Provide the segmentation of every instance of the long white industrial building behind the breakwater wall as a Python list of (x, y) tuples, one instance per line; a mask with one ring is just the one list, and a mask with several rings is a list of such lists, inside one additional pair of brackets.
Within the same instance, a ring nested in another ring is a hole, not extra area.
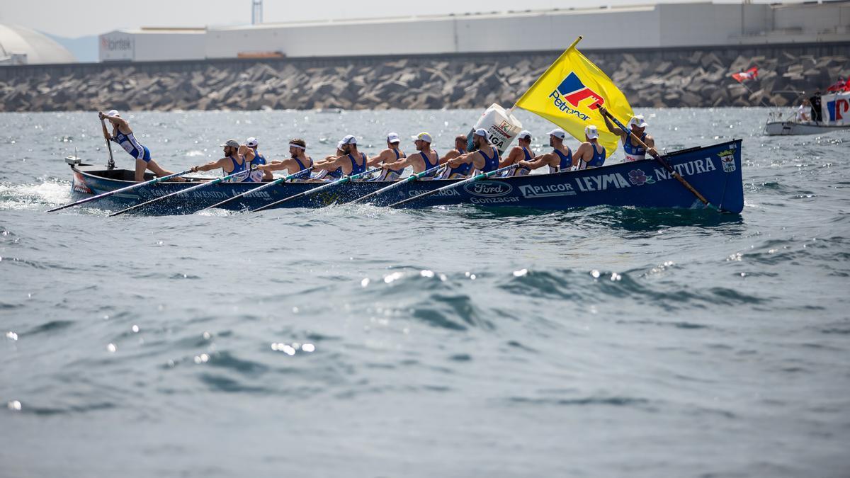
[[(252, 7), (256, 12), (256, 1)], [(111, 31), (100, 36), (100, 60), (553, 51), (579, 35), (585, 49), (847, 42), (850, 2), (663, 3)]]

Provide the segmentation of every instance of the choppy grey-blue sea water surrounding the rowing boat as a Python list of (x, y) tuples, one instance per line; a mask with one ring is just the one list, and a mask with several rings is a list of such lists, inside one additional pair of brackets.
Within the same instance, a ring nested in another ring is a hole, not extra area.
[[(0, 475), (847, 476), (850, 133), (644, 112), (661, 147), (743, 137), (743, 214), (48, 214), (97, 117), (0, 114)], [(478, 114), (131, 119), (183, 168), (252, 135), (442, 152)]]

